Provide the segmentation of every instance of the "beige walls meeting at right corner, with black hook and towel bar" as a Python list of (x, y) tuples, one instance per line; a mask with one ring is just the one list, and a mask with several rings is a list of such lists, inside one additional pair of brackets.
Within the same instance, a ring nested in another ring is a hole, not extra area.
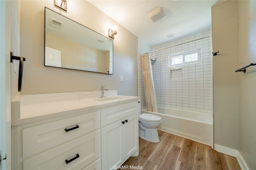
[[(214, 143), (236, 149), (256, 169), (256, 1), (225, 1), (212, 8)], [(223, 68), (225, 71), (223, 71)]]

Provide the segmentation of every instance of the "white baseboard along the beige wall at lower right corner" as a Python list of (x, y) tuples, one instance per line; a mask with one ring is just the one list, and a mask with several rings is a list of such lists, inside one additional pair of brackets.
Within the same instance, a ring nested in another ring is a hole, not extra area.
[(216, 144), (214, 144), (214, 150), (216, 150), (220, 153), (223, 153), (223, 154), (227, 154), (229, 156), (236, 157), (241, 170), (249, 170), (246, 162), (244, 161), (244, 158), (242, 157), (242, 155), (240, 154), (240, 152), (238, 150), (223, 147), (221, 145), (216, 145)]

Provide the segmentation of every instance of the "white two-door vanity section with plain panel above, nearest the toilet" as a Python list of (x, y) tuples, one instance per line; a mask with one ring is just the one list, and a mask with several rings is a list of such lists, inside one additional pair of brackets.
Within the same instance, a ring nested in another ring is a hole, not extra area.
[(103, 109), (101, 117), (102, 169), (114, 170), (138, 155), (138, 102)]

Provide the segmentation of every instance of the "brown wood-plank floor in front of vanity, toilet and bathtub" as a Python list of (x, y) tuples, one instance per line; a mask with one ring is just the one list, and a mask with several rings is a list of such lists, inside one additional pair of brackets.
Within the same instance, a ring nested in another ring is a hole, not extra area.
[[(210, 146), (158, 131), (159, 143), (139, 139), (139, 155), (124, 162), (126, 169), (143, 170), (241, 170), (236, 158)], [(127, 166), (126, 166), (127, 167)]]

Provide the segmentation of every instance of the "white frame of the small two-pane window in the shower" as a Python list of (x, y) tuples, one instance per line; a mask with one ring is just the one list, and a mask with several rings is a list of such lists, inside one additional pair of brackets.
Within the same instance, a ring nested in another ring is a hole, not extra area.
[[(195, 53), (197, 53), (197, 60), (185, 62), (185, 56), (186, 55), (195, 54)], [(183, 63), (172, 64), (172, 59), (180, 57), (180, 56), (182, 56), (182, 62)], [(194, 64), (194, 63), (201, 63), (201, 48), (200, 49), (193, 49), (193, 50), (184, 51), (184, 52), (181, 52), (181, 53), (176, 53), (176, 54), (169, 55), (169, 67), (172, 67), (172, 66), (182, 66), (182, 65)]]

